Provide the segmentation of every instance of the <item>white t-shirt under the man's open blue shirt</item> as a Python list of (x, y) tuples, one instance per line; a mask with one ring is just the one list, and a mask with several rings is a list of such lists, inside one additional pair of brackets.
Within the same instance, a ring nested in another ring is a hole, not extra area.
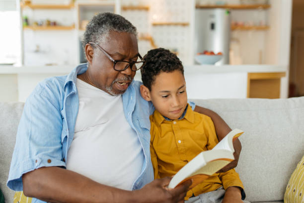
[(100, 184), (131, 190), (144, 154), (125, 117), (122, 96), (111, 96), (80, 79), (76, 87), (79, 110), (67, 169)]

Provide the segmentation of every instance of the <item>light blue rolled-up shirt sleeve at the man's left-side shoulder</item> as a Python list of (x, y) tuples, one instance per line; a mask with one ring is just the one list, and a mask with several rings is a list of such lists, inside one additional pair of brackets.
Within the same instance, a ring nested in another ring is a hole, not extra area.
[(58, 95), (40, 88), (29, 96), (17, 130), (7, 180), (10, 189), (22, 191), (21, 177), (27, 172), (66, 166), (62, 153), (62, 120)]

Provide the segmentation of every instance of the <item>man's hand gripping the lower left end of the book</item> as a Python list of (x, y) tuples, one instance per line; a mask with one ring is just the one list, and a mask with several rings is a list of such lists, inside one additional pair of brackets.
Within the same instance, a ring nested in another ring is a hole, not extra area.
[(140, 203), (184, 203), (184, 198), (192, 183), (184, 182), (174, 189), (167, 189), (171, 178), (156, 179), (141, 190), (134, 191), (136, 201)]

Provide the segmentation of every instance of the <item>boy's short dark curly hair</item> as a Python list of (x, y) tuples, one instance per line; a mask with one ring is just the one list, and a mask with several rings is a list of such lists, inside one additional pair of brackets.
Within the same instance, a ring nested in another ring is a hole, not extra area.
[(176, 54), (167, 49), (152, 49), (144, 56), (144, 60), (146, 63), (141, 68), (142, 81), (150, 91), (155, 77), (161, 72), (170, 73), (179, 70), (184, 75), (182, 62)]

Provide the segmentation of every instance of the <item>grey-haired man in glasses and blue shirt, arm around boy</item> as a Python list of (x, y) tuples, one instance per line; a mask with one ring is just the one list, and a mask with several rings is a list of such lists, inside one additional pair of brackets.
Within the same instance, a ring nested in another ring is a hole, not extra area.
[[(133, 81), (144, 63), (136, 28), (101, 13), (88, 23), (83, 45), (87, 64), (46, 79), (27, 99), (7, 186), (34, 197), (32, 203), (183, 202), (191, 181), (172, 190), (165, 187), (170, 178), (153, 181), (154, 108)], [(230, 130), (216, 113), (192, 107), (213, 118), (219, 139)]]

